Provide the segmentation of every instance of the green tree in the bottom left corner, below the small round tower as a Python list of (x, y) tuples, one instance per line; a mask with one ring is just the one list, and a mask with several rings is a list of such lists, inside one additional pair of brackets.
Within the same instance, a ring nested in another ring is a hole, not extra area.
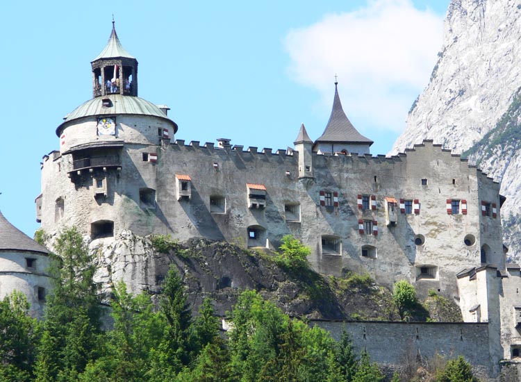
[(0, 301), (0, 380), (29, 381), (35, 360), (39, 328), (28, 317), (24, 294), (13, 292)]

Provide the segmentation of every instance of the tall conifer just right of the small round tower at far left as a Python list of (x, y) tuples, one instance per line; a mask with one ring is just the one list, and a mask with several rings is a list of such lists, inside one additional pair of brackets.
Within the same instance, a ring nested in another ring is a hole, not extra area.
[(49, 269), (53, 293), (47, 298), (35, 365), (38, 381), (76, 379), (97, 357), (101, 337), (95, 268), (81, 234), (75, 228), (64, 231), (55, 248)]

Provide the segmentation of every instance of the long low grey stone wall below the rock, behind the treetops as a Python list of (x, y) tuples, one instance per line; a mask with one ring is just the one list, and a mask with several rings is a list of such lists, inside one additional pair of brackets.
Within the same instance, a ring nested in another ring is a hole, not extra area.
[(498, 365), (490, 359), (488, 324), (437, 322), (335, 322), (312, 320), (338, 340), (345, 329), (352, 337), (356, 353), (363, 349), (379, 365), (404, 367), (418, 355), (429, 360), (436, 354), (445, 358), (464, 356), (474, 373), (490, 381), (497, 377)]

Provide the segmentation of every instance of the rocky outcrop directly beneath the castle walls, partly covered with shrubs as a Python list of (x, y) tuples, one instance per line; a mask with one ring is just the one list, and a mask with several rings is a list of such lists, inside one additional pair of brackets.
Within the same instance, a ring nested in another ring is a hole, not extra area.
[(271, 253), (204, 239), (174, 242), (161, 250), (165, 253), (149, 238), (129, 230), (115, 240), (94, 240), (90, 251), (97, 259), (95, 281), (101, 283), (106, 296), (119, 280), (133, 293), (148, 290), (157, 294), (174, 265), (186, 285), (190, 305), (197, 308), (210, 297), (222, 316), (231, 311), (243, 290), (254, 289), (295, 317), (399, 320), (390, 291), (368, 276), (334, 278), (311, 269), (288, 271), (276, 265)]

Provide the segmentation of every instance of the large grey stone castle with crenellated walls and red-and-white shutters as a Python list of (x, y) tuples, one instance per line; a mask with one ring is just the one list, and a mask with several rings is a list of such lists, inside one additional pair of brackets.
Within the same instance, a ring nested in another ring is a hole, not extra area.
[(130, 229), (269, 249), (291, 234), (322, 274), (368, 272), (388, 288), (406, 279), (420, 297), (454, 299), (465, 322), (488, 323), (477, 339), (488, 338), (490, 373), (520, 356), (521, 272), (505, 260), (504, 197), (460, 156), (429, 140), (372, 156), (337, 83), (315, 142), (304, 124), (294, 149), (278, 151), (175, 140), (169, 108), (138, 97), (138, 61), (114, 25), (92, 61), (92, 96), (64, 118), (60, 149), (44, 156), (36, 213), (45, 233), (76, 226), (110, 242)]

